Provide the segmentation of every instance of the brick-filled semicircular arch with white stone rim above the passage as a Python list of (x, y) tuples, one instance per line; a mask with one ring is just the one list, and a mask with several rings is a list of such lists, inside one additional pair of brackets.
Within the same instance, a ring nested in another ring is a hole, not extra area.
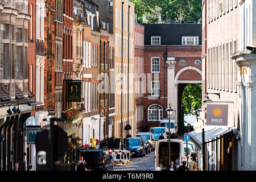
[(189, 81), (201, 81), (202, 72), (196, 67), (185, 67), (179, 70), (175, 76), (175, 83), (178, 83), (178, 80), (189, 80)]

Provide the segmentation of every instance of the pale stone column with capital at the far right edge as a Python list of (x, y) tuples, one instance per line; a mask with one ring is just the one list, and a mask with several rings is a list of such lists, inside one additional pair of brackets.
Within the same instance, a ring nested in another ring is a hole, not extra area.
[[(256, 56), (252, 53), (238, 53), (233, 56), (238, 65), (238, 86), (241, 90), (241, 146), (242, 170), (256, 170)], [(239, 155), (239, 154), (238, 154)]]

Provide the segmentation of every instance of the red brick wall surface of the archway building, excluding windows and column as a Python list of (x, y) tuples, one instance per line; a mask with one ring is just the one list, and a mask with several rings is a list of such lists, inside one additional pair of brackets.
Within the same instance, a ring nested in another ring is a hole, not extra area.
[[(199, 66), (195, 65), (195, 60), (201, 60), (201, 46), (144, 46), (144, 73), (151, 73), (151, 57), (160, 57), (160, 73), (159, 73), (159, 81), (160, 81), (160, 99), (158, 100), (158, 104), (163, 107), (163, 118), (167, 118), (167, 113), (164, 111), (164, 100), (167, 107), (167, 82), (166, 82), (166, 97), (164, 98), (164, 71), (167, 68), (164, 68), (164, 57), (163, 53), (168, 52), (168, 56), (174, 56), (176, 60), (175, 65), (175, 75), (180, 69), (191, 66), (196, 67), (201, 70), (201, 64)], [(179, 61), (184, 59), (186, 64), (181, 66)], [(167, 72), (166, 72), (167, 77)], [(152, 80), (154, 80), (154, 73), (152, 73)], [(189, 69), (188, 71), (184, 71), (181, 73), (179, 80), (201, 80), (200, 73)], [(148, 83), (147, 83), (148, 84)], [(150, 87), (151, 87), (151, 83)], [(159, 122), (147, 122), (148, 118), (148, 106), (152, 104), (156, 104), (156, 100), (148, 100), (148, 90), (147, 93), (144, 94), (143, 102), (144, 102), (144, 122), (145, 125), (148, 126), (148, 130), (152, 126), (159, 126)], [(142, 123), (139, 126), (143, 125)]]

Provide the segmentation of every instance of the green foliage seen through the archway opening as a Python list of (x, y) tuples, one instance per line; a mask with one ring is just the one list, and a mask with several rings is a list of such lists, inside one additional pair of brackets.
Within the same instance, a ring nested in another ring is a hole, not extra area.
[(184, 91), (181, 101), (183, 115), (197, 115), (196, 110), (202, 105), (202, 85), (188, 84)]

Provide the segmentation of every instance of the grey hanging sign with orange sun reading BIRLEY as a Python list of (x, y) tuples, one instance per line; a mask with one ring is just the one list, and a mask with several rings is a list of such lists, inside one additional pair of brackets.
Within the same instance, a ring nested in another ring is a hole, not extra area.
[(228, 105), (207, 105), (207, 125), (228, 126)]

